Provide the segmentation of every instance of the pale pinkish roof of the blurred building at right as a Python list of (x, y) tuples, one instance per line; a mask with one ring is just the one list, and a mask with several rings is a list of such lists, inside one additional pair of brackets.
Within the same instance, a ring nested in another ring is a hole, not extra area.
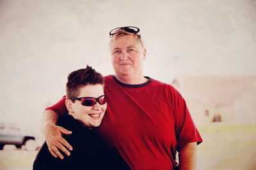
[(256, 81), (256, 76), (181, 76), (175, 78), (175, 83), (176, 85), (179, 83), (180, 90), (205, 96), (215, 105), (232, 104), (252, 81)]

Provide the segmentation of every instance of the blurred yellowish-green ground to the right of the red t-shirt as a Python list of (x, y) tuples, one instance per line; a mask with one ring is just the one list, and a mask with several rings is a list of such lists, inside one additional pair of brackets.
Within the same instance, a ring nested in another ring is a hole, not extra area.
[(198, 170), (256, 169), (256, 125), (212, 123), (199, 131)]

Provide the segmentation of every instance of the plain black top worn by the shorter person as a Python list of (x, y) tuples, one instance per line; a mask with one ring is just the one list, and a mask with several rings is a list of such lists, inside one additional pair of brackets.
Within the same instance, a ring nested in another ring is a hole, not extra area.
[(70, 115), (60, 117), (58, 125), (72, 131), (63, 138), (73, 147), (68, 157), (54, 158), (44, 143), (33, 164), (33, 170), (66, 169), (130, 169), (116, 150), (109, 148), (93, 130), (84, 127), (79, 120)]

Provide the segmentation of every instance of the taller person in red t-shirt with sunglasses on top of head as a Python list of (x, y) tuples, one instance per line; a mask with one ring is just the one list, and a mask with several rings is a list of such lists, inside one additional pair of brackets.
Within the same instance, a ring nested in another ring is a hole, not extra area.
[[(97, 132), (118, 150), (131, 169), (195, 169), (196, 144), (202, 142), (186, 102), (171, 85), (143, 76), (146, 49), (137, 27), (109, 32), (115, 75), (105, 76), (108, 110)], [(42, 132), (54, 157), (70, 155), (72, 146), (56, 126), (67, 114), (65, 97), (44, 113)], [(73, 146), (76, 147), (76, 146)], [(72, 152), (71, 152), (72, 154)]]

